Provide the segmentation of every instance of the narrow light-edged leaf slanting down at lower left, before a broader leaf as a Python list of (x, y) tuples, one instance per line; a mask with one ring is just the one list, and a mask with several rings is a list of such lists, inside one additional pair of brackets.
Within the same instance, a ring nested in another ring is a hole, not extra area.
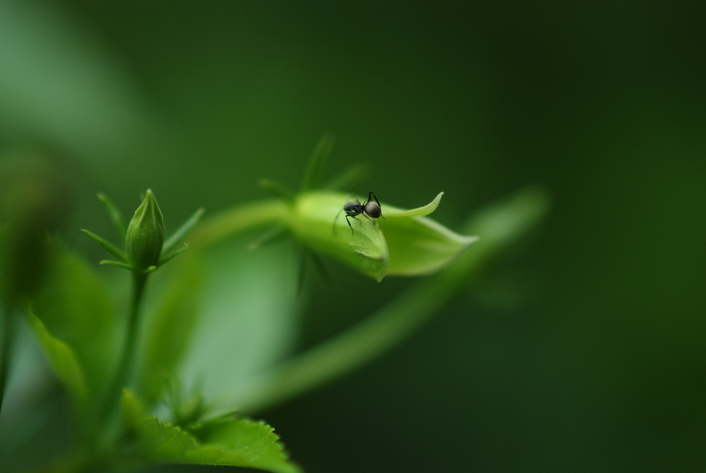
[(49, 333), (47, 327), (35, 314), (29, 312), (26, 316), (56, 377), (66, 387), (74, 402), (77, 405), (83, 405), (88, 398), (89, 390), (83, 368), (73, 349), (66, 342)]

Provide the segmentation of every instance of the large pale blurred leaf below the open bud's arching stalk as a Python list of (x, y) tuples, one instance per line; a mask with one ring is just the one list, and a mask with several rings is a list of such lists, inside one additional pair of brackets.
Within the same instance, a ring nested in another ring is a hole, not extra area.
[[(249, 251), (251, 234), (189, 251), (203, 273), (193, 342), (175, 370), (188, 393), (201, 386), (209, 399), (280, 361), (297, 337), (297, 259), (287, 241)], [(196, 245), (195, 245), (196, 246)], [(186, 333), (175, 337), (188, 338)]]

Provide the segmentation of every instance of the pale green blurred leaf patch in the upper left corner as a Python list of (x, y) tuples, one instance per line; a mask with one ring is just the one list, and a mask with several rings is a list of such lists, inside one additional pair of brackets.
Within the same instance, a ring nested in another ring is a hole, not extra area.
[(0, 128), (117, 157), (150, 127), (147, 107), (127, 68), (66, 12), (51, 2), (0, 2)]

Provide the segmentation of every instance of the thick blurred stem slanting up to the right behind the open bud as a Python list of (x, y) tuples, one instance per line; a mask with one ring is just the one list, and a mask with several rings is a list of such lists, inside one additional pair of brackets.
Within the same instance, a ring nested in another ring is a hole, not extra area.
[(548, 206), (544, 192), (530, 188), (486, 208), (465, 229), (467, 234), (481, 236), (477, 248), (435, 277), (414, 285), (357, 326), (229, 393), (229, 407), (235, 401), (239, 410), (260, 411), (349, 373), (391, 349), (438, 313), (486, 263), (517, 244), (542, 219)]

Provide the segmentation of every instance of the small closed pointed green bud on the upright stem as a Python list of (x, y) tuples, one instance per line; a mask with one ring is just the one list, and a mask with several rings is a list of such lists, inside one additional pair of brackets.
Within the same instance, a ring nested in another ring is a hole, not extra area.
[(128, 224), (125, 249), (133, 270), (148, 271), (160, 263), (164, 244), (164, 219), (155, 194), (148, 189), (145, 200)]

